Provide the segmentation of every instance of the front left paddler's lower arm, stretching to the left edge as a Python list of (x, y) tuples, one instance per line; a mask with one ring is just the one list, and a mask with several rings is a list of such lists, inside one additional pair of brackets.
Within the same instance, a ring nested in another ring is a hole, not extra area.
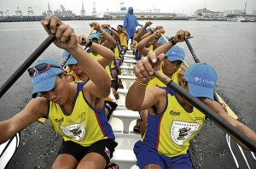
[(31, 125), (47, 114), (48, 104), (44, 98), (32, 99), (17, 115), (0, 122), (0, 144), (12, 138), (17, 132)]

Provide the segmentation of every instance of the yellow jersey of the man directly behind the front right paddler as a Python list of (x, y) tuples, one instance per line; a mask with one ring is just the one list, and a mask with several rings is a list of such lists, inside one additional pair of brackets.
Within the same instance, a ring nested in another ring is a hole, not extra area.
[[(160, 65), (161, 73), (163, 73), (163, 69), (162, 69), (163, 65), (164, 65), (164, 63), (162, 62)], [(181, 71), (181, 68), (178, 68), (178, 70), (172, 75), (172, 81), (176, 82), (177, 84), (178, 84), (178, 74), (180, 71)], [(163, 82), (160, 82), (160, 80), (158, 78), (154, 77), (154, 79), (151, 79), (148, 82), (147, 88), (149, 88), (149, 87), (166, 87), (166, 84)]]

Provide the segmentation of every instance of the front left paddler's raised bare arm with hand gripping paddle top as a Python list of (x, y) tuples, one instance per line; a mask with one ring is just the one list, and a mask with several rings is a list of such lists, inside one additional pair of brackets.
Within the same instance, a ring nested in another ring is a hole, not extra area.
[[(48, 23), (50, 23), (50, 30), (47, 27)], [(67, 52), (72, 54), (83, 67), (86, 75), (90, 78), (88, 85), (91, 85), (91, 90), (87, 92), (92, 93), (99, 98), (107, 97), (110, 93), (110, 78), (102, 65), (90, 57), (90, 55), (84, 51), (84, 48), (79, 45), (79, 38), (75, 35), (73, 28), (64, 24), (56, 17), (46, 17), (44, 21), (42, 21), (42, 25), (44, 26), (45, 31), (49, 34), (55, 33), (55, 37), (58, 40), (55, 40), (55, 45), (59, 48), (66, 49)], [(56, 25), (59, 26), (55, 32)], [(67, 39), (69, 39), (69, 41), (67, 41)]]

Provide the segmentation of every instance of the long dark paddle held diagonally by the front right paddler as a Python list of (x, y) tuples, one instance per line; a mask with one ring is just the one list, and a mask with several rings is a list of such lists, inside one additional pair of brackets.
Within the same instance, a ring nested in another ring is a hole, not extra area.
[(236, 127), (230, 125), (228, 121), (225, 121), (221, 116), (215, 113), (213, 110), (203, 104), (199, 99), (193, 97), (189, 92), (187, 92), (183, 87), (180, 87), (176, 82), (161, 73), (160, 71), (154, 70), (154, 76), (156, 76), (161, 82), (165, 83), (167, 87), (172, 88), (172, 90), (180, 95), (183, 99), (195, 106), (196, 109), (200, 110), (202, 113), (207, 115), (212, 121), (218, 124), (218, 126), (223, 127), (227, 132), (239, 140), (242, 144), (245, 144), (253, 152), (256, 152), (256, 143), (250, 138), (247, 138), (242, 132), (238, 131)]

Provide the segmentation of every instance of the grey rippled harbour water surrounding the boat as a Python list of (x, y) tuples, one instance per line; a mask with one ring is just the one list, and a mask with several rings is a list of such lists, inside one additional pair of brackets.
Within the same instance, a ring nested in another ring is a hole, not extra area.
[[(66, 21), (77, 34), (90, 31), (91, 21)], [(113, 27), (121, 20), (98, 21)], [(144, 21), (139, 21), (144, 24)], [(217, 92), (236, 112), (239, 119), (256, 131), (256, 24), (207, 21), (153, 21), (163, 25), (166, 36), (172, 37), (179, 29), (187, 30), (195, 38), (190, 40), (201, 62), (212, 65), (218, 73)], [(39, 22), (0, 23), (0, 86), (38, 48), (47, 36)], [(186, 53), (186, 61), (195, 63), (186, 43), (178, 43)], [(50, 45), (40, 56), (61, 61), (62, 50)], [(32, 84), (25, 72), (13, 87), (0, 99), (0, 121), (15, 115), (31, 99)], [(21, 145), (8, 168), (50, 168), (61, 144), (48, 122), (34, 123), (21, 132)], [(236, 144), (234, 144), (236, 147)], [(192, 141), (191, 159), (195, 168), (236, 168), (225, 143), (224, 132), (212, 121), (206, 121), (200, 135)], [(241, 155), (235, 149), (236, 155)], [(251, 167), (256, 166), (246, 152)], [(217, 162), (218, 161), (218, 162)], [(241, 160), (240, 168), (247, 168)]]

